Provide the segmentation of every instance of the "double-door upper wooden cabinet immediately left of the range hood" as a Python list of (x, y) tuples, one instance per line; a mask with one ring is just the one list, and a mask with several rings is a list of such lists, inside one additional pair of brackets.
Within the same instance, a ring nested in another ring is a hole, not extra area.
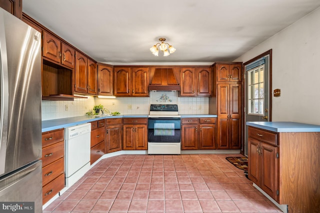
[(115, 96), (148, 96), (147, 67), (114, 67)]

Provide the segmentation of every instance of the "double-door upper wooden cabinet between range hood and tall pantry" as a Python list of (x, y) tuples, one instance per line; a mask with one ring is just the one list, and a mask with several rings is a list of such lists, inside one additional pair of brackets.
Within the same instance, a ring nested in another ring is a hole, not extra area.
[(181, 67), (180, 96), (211, 96), (211, 67)]

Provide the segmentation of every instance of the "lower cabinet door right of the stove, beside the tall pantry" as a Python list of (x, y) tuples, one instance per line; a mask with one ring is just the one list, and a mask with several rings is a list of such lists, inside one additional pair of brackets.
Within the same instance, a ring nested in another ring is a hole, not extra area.
[(214, 149), (215, 148), (215, 124), (200, 124), (199, 148)]

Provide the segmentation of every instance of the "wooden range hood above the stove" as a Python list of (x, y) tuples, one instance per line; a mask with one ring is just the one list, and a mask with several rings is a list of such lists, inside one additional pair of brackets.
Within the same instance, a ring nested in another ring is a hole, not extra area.
[(149, 91), (180, 91), (172, 68), (155, 68)]

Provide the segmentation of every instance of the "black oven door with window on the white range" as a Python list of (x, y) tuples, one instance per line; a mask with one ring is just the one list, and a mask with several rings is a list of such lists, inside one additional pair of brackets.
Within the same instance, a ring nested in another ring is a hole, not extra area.
[(148, 142), (180, 142), (180, 117), (149, 117)]

